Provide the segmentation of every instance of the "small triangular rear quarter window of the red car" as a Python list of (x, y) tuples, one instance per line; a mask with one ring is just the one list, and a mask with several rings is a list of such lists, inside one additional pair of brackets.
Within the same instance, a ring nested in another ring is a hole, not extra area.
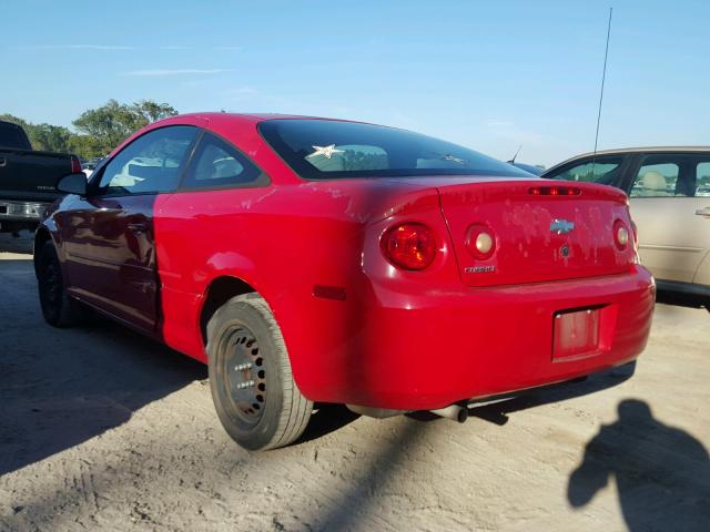
[(234, 146), (205, 133), (195, 151), (182, 188), (213, 188), (253, 183), (262, 175)]

